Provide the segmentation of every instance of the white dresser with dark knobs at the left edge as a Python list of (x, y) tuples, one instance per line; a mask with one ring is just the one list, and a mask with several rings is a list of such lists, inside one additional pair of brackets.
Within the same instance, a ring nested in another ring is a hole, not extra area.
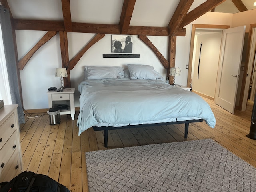
[(0, 108), (0, 182), (10, 181), (22, 172), (18, 105)]

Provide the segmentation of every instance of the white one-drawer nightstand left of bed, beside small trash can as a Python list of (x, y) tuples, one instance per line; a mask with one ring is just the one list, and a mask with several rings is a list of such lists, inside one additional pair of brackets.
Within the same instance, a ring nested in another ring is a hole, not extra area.
[(65, 88), (60, 92), (48, 91), (49, 108), (68, 105), (70, 108), (60, 108), (60, 115), (70, 114), (72, 120), (75, 120), (74, 93), (75, 88)]

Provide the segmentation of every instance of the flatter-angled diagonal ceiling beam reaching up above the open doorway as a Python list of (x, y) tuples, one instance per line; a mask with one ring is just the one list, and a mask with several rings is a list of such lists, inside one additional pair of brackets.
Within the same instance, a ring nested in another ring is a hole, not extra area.
[(222, 4), (224, 1), (226, 0), (207, 0), (206, 2), (202, 3), (200, 6), (186, 14), (184, 20), (180, 24), (180, 28), (190, 24), (192, 21), (196, 20), (206, 12), (212, 10), (219, 4)]

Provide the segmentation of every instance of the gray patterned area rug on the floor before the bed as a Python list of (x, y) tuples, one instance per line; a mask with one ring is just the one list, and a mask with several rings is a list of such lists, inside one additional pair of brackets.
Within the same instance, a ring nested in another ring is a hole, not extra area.
[(211, 139), (86, 152), (90, 192), (252, 192), (256, 169)]

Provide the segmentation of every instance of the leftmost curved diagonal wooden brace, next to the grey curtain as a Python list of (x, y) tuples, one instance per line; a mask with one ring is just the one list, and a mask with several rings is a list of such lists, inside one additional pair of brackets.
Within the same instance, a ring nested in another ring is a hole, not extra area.
[(28, 60), (33, 56), (33, 54), (48, 40), (50, 40), (54, 35), (56, 35), (56, 31), (47, 32), (38, 42), (37, 44), (18, 62), (18, 70), (23, 70)]

